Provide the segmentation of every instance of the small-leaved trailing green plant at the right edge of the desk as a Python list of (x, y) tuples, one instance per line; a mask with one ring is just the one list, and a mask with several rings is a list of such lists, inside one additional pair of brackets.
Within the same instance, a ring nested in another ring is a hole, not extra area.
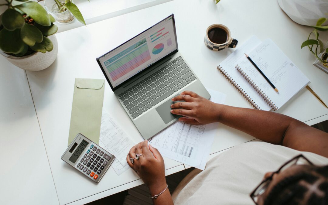
[[(318, 31), (327, 31), (328, 26), (322, 26), (322, 24), (326, 21), (326, 18), (320, 18), (317, 21), (316, 26), (312, 26), (314, 28), (314, 31), (312, 31), (306, 41), (304, 41), (301, 45), (301, 48), (307, 46), (309, 50), (313, 53), (313, 55), (319, 59), (320, 62), (322, 63), (328, 63), (327, 61), (327, 55), (328, 55), (328, 48), (324, 51), (323, 43), (322, 41), (318, 38), (319, 33)], [(310, 39), (311, 36), (314, 36), (314, 38)], [(318, 54), (324, 53), (321, 55), (321, 57), (318, 56)]]

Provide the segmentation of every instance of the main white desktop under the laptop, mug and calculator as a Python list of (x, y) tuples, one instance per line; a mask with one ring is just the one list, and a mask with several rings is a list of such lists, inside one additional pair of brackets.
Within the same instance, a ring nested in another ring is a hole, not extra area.
[[(95, 58), (130, 39), (169, 14), (175, 14), (179, 51), (206, 87), (228, 94), (227, 104), (251, 108), (250, 104), (216, 70), (233, 49), (211, 51), (204, 46), (206, 28), (213, 23), (229, 27), (239, 45), (252, 34), (261, 40), (272, 38), (297, 67), (311, 80), (310, 86), (328, 102), (328, 75), (312, 65), (314, 57), (301, 43), (312, 31), (291, 21), (276, 1), (182, 1), (157, 5), (133, 13), (56, 34), (59, 51), (54, 64), (40, 72), (27, 72), (40, 129), (60, 204), (87, 203), (142, 183), (131, 170), (116, 176), (111, 168), (98, 185), (86, 180), (60, 156), (67, 148), (75, 77), (102, 78)], [(267, 26), (268, 25), (268, 26)], [(326, 40), (326, 39), (323, 39)], [(106, 83), (104, 108), (124, 125), (135, 142), (142, 140), (133, 123)], [(308, 124), (328, 119), (328, 110), (307, 90), (299, 92), (278, 113)], [(254, 139), (220, 125), (211, 153)], [(184, 169), (181, 163), (165, 159), (166, 174)], [(115, 176), (115, 177), (111, 177)]]

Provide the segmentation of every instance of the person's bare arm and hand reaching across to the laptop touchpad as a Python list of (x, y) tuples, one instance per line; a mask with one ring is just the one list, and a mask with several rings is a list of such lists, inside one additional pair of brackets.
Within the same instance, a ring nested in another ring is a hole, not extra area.
[(201, 125), (221, 122), (248, 133), (265, 142), (279, 144), (299, 151), (308, 151), (328, 157), (328, 133), (283, 114), (255, 109), (216, 104), (185, 91), (172, 99), (172, 113), (189, 124)]

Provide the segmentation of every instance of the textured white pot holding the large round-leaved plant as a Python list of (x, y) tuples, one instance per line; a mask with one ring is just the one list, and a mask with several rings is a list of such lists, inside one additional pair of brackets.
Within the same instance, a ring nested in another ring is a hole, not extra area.
[(0, 52), (7, 60), (15, 66), (27, 71), (41, 71), (48, 68), (56, 59), (58, 53), (58, 43), (55, 35), (48, 36), (52, 41), (53, 49), (50, 52), (35, 52), (27, 56), (17, 57)]

